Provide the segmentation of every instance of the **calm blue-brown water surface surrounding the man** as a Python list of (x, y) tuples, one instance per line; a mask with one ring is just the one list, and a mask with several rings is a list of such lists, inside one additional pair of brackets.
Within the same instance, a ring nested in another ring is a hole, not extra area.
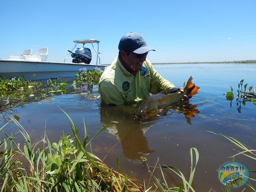
[[(147, 158), (149, 166), (155, 166), (159, 158), (161, 165), (175, 166), (188, 178), (190, 148), (197, 148), (200, 157), (193, 182), (195, 190), (208, 192), (213, 188), (221, 191), (224, 186), (218, 180), (218, 169), (232, 160), (230, 156), (236, 154), (238, 148), (229, 144), (223, 136), (211, 132), (231, 136), (256, 148), (256, 105), (246, 102), (238, 112), (236, 100), (230, 104), (225, 97), (230, 86), (236, 95), (242, 79), (244, 84), (256, 87), (256, 64), (159, 64), (154, 68), (178, 87), (192, 76), (192, 82), (200, 87), (198, 94), (188, 104), (172, 105), (162, 116), (144, 121), (134, 118), (136, 108), (131, 106), (101, 106), (96, 86), (91, 88), (90, 94), (53, 96), (29, 103), (24, 108), (14, 108), (14, 112), (34, 142), (42, 139), (45, 129), (51, 142), (57, 142), (60, 133), (72, 134), (68, 118), (60, 108), (70, 115), (81, 135), (83, 119), (90, 137), (104, 124), (113, 121), (92, 141), (94, 153), (115, 169), (117, 155), (123, 173), (146, 182), (154, 180), (150, 179), (147, 166), (140, 164), (141, 157)], [(9, 116), (3, 115), (1, 126), (4, 125), (4, 118)], [(13, 133), (18, 132), (13, 123), (7, 127), (11, 127)], [(17, 140), (21, 138), (18, 134), (16, 137)], [(250, 158), (240, 155), (235, 160), (256, 170), (255, 161)], [(162, 178), (158, 170), (154, 174)], [(180, 182), (172, 172), (166, 174), (166, 178), (172, 184)], [(252, 184), (256, 186), (255, 182)], [(232, 191), (242, 191), (242, 188)]]

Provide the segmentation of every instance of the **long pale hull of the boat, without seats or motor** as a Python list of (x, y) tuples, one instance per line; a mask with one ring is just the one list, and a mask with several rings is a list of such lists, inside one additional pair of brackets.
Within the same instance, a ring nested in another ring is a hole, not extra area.
[(96, 67), (104, 70), (106, 66), (83, 63), (0, 60), (0, 76), (10, 79), (23, 77), (25, 80), (72, 78), (79, 73), (80, 68), (84, 67), (87, 70), (93, 70)]

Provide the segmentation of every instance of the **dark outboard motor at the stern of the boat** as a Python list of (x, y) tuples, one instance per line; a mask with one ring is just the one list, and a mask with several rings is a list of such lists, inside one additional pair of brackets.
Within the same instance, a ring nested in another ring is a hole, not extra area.
[(70, 50), (68, 52), (72, 53), (72, 63), (85, 63), (90, 64), (92, 60), (92, 52), (89, 48), (82, 47), (77, 48), (77, 50), (73, 53)]

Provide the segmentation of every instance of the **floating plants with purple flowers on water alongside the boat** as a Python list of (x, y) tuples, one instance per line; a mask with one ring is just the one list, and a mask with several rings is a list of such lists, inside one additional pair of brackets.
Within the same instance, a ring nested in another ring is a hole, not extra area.
[[(87, 90), (88, 86), (98, 84), (103, 70), (95, 68), (94, 70), (86, 70), (81, 68), (79, 74), (76, 74), (77, 80), (72, 84), (74, 88), (77, 85), (81, 90)], [(47, 80), (47, 84), (32, 80), (24, 80), (24, 78), (4, 78), (0, 77), (0, 111), (7, 110), (17, 105), (24, 104), (31, 100), (45, 99), (47, 96), (54, 94), (68, 93), (68, 83), (62, 80)]]

